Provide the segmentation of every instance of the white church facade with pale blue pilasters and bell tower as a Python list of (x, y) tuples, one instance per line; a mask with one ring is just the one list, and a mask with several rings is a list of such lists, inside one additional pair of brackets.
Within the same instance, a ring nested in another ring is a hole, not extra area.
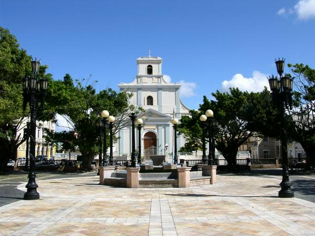
[[(132, 92), (131, 104), (142, 107), (144, 121), (141, 130), (141, 153), (147, 148), (156, 148), (157, 154), (173, 152), (174, 132), (171, 119), (180, 119), (189, 115), (180, 99), (181, 85), (168, 83), (162, 74), (162, 59), (159, 57), (141, 57), (137, 60), (137, 75), (131, 83), (118, 85), (120, 91)], [(136, 125), (137, 126), (137, 125)], [(135, 129), (136, 149), (138, 147), (138, 130)], [(184, 137), (177, 137), (177, 149), (184, 146)], [(119, 132), (119, 141), (115, 144), (118, 155), (131, 153), (131, 127)], [(165, 150), (165, 146), (168, 146)]]

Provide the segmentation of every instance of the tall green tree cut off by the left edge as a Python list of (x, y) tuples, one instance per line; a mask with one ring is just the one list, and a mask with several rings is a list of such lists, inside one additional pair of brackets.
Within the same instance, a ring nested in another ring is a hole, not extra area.
[(23, 110), (22, 79), (31, 73), (31, 57), (8, 29), (0, 27), (0, 172), (25, 141), (17, 135), (28, 111)]

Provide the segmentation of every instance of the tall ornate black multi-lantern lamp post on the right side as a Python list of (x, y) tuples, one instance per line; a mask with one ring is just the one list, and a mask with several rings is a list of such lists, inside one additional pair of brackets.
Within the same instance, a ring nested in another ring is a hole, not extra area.
[(284, 75), (284, 59), (276, 59), (277, 71), (280, 76), (269, 76), (269, 86), (272, 91), (272, 99), (274, 104), (279, 109), (281, 120), (281, 154), (282, 154), (282, 182), (280, 183), (281, 190), (278, 196), (281, 198), (293, 198), (294, 192), (291, 190), (291, 182), (289, 180), (288, 160), (287, 160), (287, 136), (285, 130), (285, 108), (292, 109), (292, 88), (293, 80), (289, 75)]

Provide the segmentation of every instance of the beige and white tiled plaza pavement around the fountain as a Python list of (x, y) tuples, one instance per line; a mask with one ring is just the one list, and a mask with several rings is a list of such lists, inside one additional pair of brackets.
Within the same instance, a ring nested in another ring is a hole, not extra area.
[(0, 207), (0, 236), (315, 236), (315, 203), (278, 198), (280, 181), (227, 174), (215, 185), (127, 189), (97, 176), (38, 180), (40, 200)]

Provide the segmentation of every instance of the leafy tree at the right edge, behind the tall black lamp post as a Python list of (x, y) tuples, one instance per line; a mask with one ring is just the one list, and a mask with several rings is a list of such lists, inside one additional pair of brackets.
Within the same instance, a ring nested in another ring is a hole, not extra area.
[(288, 64), (295, 75), (293, 139), (307, 155), (308, 169), (315, 168), (315, 69), (304, 64)]

